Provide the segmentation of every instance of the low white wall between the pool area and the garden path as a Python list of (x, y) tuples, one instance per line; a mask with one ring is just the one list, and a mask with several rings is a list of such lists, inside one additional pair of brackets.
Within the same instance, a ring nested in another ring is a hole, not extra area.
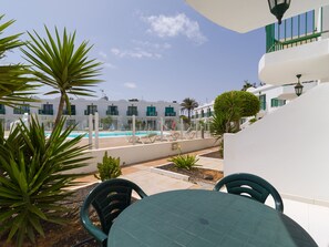
[(91, 155), (93, 158), (89, 162), (89, 166), (81, 167), (74, 172), (93, 173), (97, 171), (97, 163), (102, 162), (106, 151), (109, 156), (120, 157), (121, 164), (130, 165), (178, 154), (179, 151), (177, 148), (173, 148), (173, 145), (176, 145), (176, 147), (178, 145), (182, 153), (187, 153), (212, 147), (218, 144), (216, 144), (215, 138), (210, 137), (92, 150)]

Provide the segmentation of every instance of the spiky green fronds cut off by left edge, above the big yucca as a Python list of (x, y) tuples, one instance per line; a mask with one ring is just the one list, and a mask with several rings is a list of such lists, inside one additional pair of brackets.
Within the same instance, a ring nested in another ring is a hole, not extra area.
[[(4, 16), (0, 16), (0, 20)], [(24, 43), (19, 40), (22, 33), (2, 37), (3, 31), (9, 28), (14, 20), (0, 24), (0, 59), (6, 56), (8, 51), (19, 48)], [(0, 65), (0, 104), (14, 106), (23, 102), (33, 102), (30, 97), (37, 85), (31, 84), (33, 78), (29, 76), (30, 71), (22, 64)]]

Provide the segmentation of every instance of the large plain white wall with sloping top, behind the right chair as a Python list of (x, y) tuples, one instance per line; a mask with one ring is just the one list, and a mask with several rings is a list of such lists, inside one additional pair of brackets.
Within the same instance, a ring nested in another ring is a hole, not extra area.
[(225, 175), (257, 174), (284, 195), (329, 203), (329, 83), (224, 140)]

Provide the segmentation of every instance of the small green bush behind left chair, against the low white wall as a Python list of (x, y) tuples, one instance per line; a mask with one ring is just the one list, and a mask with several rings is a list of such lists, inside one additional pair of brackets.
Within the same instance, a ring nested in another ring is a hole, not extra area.
[(100, 175), (95, 174), (95, 177), (101, 181), (107, 181), (111, 178), (119, 177), (121, 173), (120, 167), (120, 157), (109, 157), (107, 151), (105, 152), (103, 156), (103, 163), (97, 163), (97, 168)]

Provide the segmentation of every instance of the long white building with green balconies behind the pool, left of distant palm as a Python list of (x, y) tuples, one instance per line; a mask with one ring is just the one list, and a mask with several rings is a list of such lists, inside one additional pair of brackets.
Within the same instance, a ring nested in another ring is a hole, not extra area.
[[(18, 106), (16, 109), (0, 105), (0, 122), (6, 130), (10, 128), (10, 123), (22, 117), (23, 113), (37, 114), (47, 130), (51, 130), (58, 114), (59, 97), (39, 99), (40, 102), (31, 105)], [(137, 130), (158, 130), (160, 120), (163, 117), (166, 126), (172, 126), (173, 122), (178, 123), (179, 103), (177, 102), (147, 102), (143, 100), (120, 100), (109, 101), (106, 97), (99, 100), (76, 99), (71, 100), (71, 115), (68, 109), (63, 115), (66, 116), (66, 124), (76, 124), (78, 130), (89, 127), (89, 115), (99, 113), (100, 120), (111, 116), (111, 130), (131, 130), (132, 116), (136, 116)], [(100, 127), (102, 124), (100, 123)]]

